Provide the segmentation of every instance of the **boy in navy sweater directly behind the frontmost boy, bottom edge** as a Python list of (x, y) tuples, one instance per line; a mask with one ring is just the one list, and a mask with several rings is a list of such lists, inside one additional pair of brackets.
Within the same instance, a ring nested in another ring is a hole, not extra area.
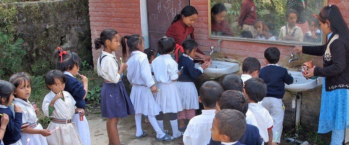
[[(246, 114), (248, 108), (248, 101), (245, 95), (236, 90), (224, 91), (217, 100), (216, 112), (220, 112), (223, 109), (235, 109), (243, 114)], [(246, 124), (246, 131), (244, 135), (239, 139), (239, 142), (246, 145), (261, 145), (262, 139), (259, 134), (259, 130), (256, 126)], [(218, 145), (219, 142), (213, 140), (210, 141), (210, 145)]]

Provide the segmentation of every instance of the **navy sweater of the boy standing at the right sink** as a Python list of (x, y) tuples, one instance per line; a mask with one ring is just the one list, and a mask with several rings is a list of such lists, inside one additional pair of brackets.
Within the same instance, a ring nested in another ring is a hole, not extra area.
[(279, 66), (269, 65), (263, 67), (259, 72), (259, 78), (267, 85), (267, 96), (282, 99), (285, 94), (285, 84), (292, 84), (293, 77), (287, 69)]

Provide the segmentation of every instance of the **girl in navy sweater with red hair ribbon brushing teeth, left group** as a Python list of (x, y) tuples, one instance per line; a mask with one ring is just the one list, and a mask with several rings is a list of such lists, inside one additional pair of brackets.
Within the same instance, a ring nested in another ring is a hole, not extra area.
[[(82, 83), (76, 79), (81, 64), (80, 57), (74, 52), (64, 51), (61, 47), (58, 47), (55, 52), (55, 58), (57, 58), (57, 69), (64, 72), (67, 80), (64, 91), (69, 92), (73, 96), (77, 108), (85, 110), (88, 80), (84, 75), (81, 75)], [(81, 117), (80, 115), (81, 113), (75, 113), (72, 121), (76, 124), (82, 144), (90, 145), (89, 125), (85, 115)]]

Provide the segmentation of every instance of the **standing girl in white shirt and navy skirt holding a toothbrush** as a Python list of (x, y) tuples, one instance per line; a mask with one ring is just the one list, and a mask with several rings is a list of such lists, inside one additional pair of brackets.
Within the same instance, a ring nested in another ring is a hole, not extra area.
[[(132, 102), (121, 80), (122, 72), (127, 64), (121, 63), (118, 68), (118, 59), (115, 56), (120, 45), (120, 35), (114, 29), (104, 29), (95, 40), (95, 47), (103, 46), (101, 57), (97, 61), (97, 73), (104, 78), (101, 91), (102, 117), (107, 117), (107, 133), (109, 144), (122, 144), (119, 139), (117, 124), (119, 118), (135, 113)], [(122, 144), (123, 145), (123, 144)]]

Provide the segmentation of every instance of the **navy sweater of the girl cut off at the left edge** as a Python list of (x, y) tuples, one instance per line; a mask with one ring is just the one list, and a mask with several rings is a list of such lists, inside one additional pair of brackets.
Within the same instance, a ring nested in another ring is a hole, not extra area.
[(6, 113), (9, 118), (6, 131), (2, 139), (3, 143), (5, 145), (16, 143), (21, 139), (22, 113), (15, 112), (15, 117), (13, 117), (13, 113), (10, 108), (0, 108), (0, 113)]

